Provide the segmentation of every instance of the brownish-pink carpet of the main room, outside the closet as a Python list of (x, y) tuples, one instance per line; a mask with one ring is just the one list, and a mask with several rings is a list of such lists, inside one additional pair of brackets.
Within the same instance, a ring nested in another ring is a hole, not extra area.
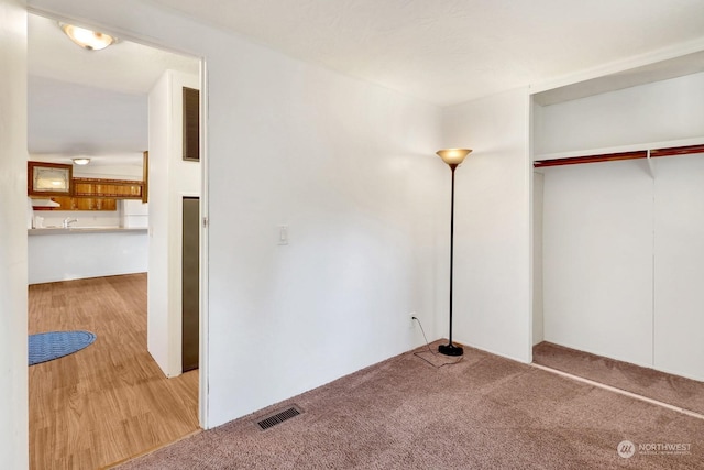
[[(440, 368), (432, 364), (454, 358), (417, 352), (120, 469), (701, 469), (704, 462), (704, 420), (470, 348), (462, 361)], [(290, 404), (304, 413), (260, 430), (258, 419)], [(630, 458), (617, 453), (625, 440), (634, 444)]]

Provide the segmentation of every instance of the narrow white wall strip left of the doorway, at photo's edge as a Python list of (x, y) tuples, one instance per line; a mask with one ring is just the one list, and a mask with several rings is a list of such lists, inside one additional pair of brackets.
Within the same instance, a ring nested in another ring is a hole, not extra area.
[(29, 467), (26, 351), (26, 11), (0, 0), (0, 453)]

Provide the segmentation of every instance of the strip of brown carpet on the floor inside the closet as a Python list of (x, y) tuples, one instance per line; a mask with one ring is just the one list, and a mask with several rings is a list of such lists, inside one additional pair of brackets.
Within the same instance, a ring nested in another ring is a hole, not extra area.
[[(590, 354), (547, 341), (534, 347), (532, 360), (537, 364), (704, 414), (704, 382)], [(704, 468), (704, 463), (702, 467)]]

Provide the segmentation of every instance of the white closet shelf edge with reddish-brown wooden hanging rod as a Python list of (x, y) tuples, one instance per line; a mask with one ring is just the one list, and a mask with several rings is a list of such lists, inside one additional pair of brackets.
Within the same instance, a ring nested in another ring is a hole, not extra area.
[(576, 165), (582, 163), (647, 159), (648, 151), (650, 151), (650, 157), (704, 153), (704, 136), (604, 149), (540, 154), (535, 155), (532, 166), (535, 168), (541, 168), (546, 166)]

